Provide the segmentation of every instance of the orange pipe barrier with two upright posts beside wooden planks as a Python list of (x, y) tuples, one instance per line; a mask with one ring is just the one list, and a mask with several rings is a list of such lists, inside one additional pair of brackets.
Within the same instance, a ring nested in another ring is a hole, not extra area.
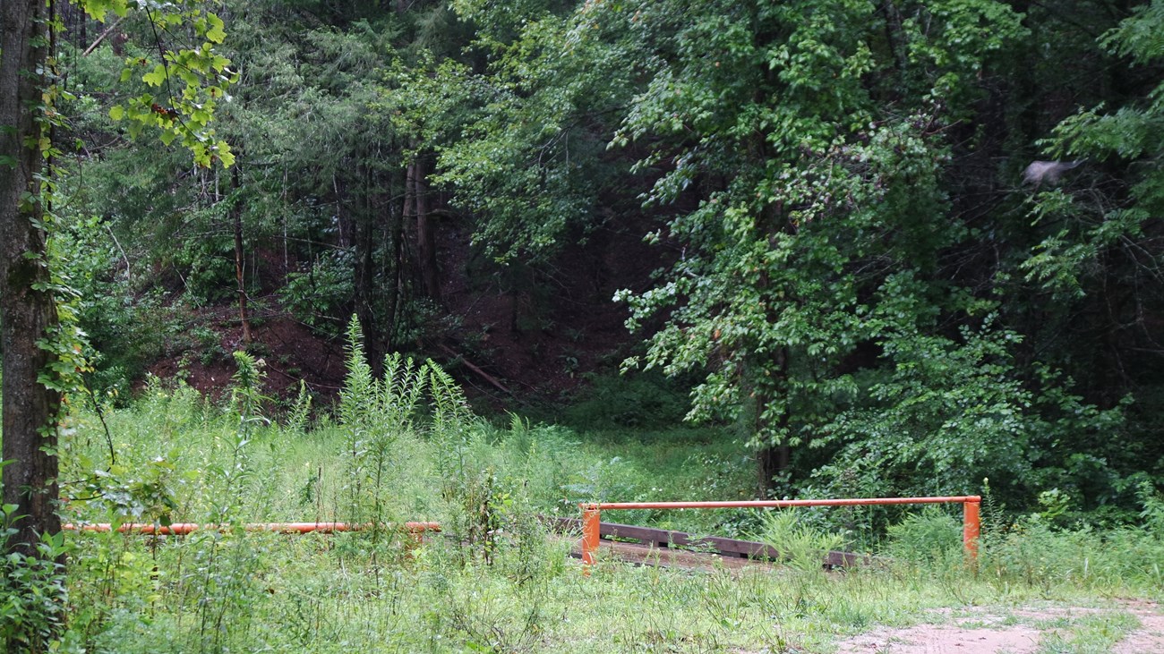
[(982, 498), (977, 495), (949, 497), (878, 497), (858, 499), (753, 499), (744, 502), (601, 502), (583, 503), (582, 509), (582, 563), (583, 574), (590, 574), (594, 553), (598, 550), (601, 512), (630, 509), (788, 509), (793, 506), (870, 506), (883, 504), (951, 504), (963, 506), (961, 542), (971, 564), (978, 561), (978, 536), (981, 533), (979, 506)]

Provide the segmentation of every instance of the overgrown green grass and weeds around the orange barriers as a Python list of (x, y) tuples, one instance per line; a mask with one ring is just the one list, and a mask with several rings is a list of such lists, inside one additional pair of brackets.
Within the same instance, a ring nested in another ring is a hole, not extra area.
[[(541, 517), (576, 516), (584, 499), (739, 497), (752, 483), (743, 448), (708, 431), (496, 426), (439, 374), (398, 362), (395, 378), (355, 375), (335, 417), (314, 422), (305, 405), (265, 419), (246, 375), (225, 405), (155, 383), (104, 425), (74, 414), (62, 447), (69, 520), (225, 528), (69, 535), (57, 651), (828, 653), (874, 628), (989, 617), (1051, 628), (1041, 653), (1108, 652), (1140, 626), (1129, 599), (1164, 598), (1164, 503), (1147, 495), (1142, 525), (1106, 532), (988, 513), (973, 570), (958, 518), (942, 510), (865, 539), (887, 559), (846, 571), (818, 562), (852, 534), (817, 513), (626, 512), (618, 521), (754, 535), (792, 557), (745, 571), (602, 560), (584, 577), (572, 538)], [(275, 520), (389, 526), (242, 529)], [(445, 533), (417, 545), (390, 526), (404, 520)], [(13, 606), (0, 611), (34, 619)]]

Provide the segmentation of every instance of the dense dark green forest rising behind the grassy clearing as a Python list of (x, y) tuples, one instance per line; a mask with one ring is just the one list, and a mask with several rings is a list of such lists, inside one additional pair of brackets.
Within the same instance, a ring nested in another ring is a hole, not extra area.
[(758, 493), (1164, 479), (1164, 3), (135, 5), (45, 19), (74, 401), (326, 406), (354, 314), (495, 408), (677, 392)]

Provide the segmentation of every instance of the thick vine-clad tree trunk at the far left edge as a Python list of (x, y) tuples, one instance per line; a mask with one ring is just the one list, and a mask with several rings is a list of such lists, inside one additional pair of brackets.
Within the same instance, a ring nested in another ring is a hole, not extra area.
[[(3, 503), (17, 505), (16, 533), (8, 545), (35, 554), (42, 533), (57, 533), (57, 392), (37, 381), (49, 364), (37, 347), (57, 322), (49, 287), (45, 235), (41, 228), (38, 128), (40, 71), (47, 56), (44, 0), (0, 5), (0, 370), (3, 375)], [(40, 289), (40, 290), (38, 290)]]

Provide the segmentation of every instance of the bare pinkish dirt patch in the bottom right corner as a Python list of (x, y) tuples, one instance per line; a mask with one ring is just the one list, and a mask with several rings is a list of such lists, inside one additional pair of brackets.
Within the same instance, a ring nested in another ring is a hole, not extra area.
[[(949, 624), (882, 627), (840, 642), (838, 654), (1034, 654), (1044, 638), (1070, 628), (1072, 619), (1100, 612), (1128, 612), (1140, 627), (1122, 638), (1113, 654), (1164, 654), (1164, 607), (1128, 602), (1113, 609), (1022, 609), (1009, 614), (950, 617)], [(1053, 627), (1042, 625), (1055, 624)]]

